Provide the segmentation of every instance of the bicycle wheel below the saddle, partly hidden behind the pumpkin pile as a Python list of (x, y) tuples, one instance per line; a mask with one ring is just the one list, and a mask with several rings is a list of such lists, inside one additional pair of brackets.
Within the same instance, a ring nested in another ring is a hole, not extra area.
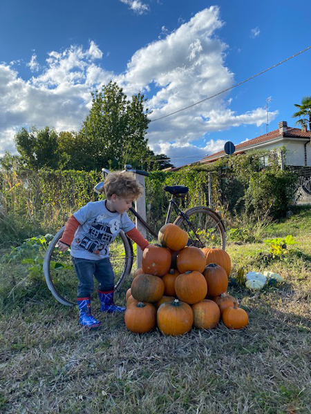
[(220, 215), (208, 207), (189, 208), (184, 216), (174, 221), (189, 235), (189, 245), (196, 247), (218, 247), (225, 250), (226, 230)]

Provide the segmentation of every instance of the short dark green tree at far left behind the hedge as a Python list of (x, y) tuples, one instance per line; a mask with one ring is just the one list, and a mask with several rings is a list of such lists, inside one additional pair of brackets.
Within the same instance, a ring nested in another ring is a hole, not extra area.
[(53, 128), (30, 130), (21, 128), (15, 135), (15, 144), (21, 161), (31, 169), (59, 168), (59, 149), (57, 144), (57, 132)]

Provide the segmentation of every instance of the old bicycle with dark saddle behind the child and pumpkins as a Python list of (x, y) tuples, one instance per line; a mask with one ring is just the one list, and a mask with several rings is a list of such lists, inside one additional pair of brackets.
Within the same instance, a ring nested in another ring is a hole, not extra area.
[[(148, 172), (135, 170), (130, 165), (126, 165), (125, 170), (138, 175), (149, 175)], [(109, 170), (102, 168), (102, 175), (105, 176), (106, 174), (109, 174)], [(102, 193), (104, 190), (104, 182), (98, 183), (94, 190), (98, 194)], [(205, 246), (218, 247), (225, 250), (225, 224), (216, 211), (206, 206), (197, 206), (189, 208), (184, 212), (180, 210), (176, 199), (185, 197), (189, 189), (186, 186), (166, 186), (164, 190), (171, 194), (165, 224), (170, 222), (171, 214), (174, 211), (177, 218), (173, 221), (173, 224), (187, 231), (189, 236), (188, 246), (200, 248)], [(133, 207), (129, 211), (137, 217), (138, 221), (148, 230), (152, 237), (158, 239), (158, 232), (151, 228)], [(57, 242), (62, 238), (64, 228), (65, 226), (57, 232), (50, 242), (44, 257), (43, 268), (46, 283), (55, 299), (66, 306), (73, 306), (75, 305), (73, 289), (76, 288), (75, 270), (71, 264), (69, 250), (62, 253), (57, 248)], [(134, 259), (131, 239), (122, 230), (109, 246), (109, 256), (115, 273), (115, 291), (118, 291), (126, 275), (131, 273)]]

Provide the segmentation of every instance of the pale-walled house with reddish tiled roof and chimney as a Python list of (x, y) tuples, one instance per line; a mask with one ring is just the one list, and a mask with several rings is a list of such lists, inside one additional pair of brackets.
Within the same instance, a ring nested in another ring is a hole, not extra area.
[[(291, 128), (286, 121), (279, 122), (279, 128), (265, 135), (249, 139), (236, 145), (235, 155), (250, 150), (275, 150), (285, 146), (285, 159), (288, 166), (311, 166), (311, 132), (305, 129)], [(204, 157), (199, 162), (211, 163), (227, 154), (224, 150)]]

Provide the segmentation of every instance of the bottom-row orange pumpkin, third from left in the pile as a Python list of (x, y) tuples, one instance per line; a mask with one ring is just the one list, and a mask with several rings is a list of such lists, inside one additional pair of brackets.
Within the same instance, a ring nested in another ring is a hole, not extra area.
[(220, 309), (217, 304), (209, 299), (192, 305), (194, 311), (194, 326), (199, 329), (216, 328), (220, 319)]

